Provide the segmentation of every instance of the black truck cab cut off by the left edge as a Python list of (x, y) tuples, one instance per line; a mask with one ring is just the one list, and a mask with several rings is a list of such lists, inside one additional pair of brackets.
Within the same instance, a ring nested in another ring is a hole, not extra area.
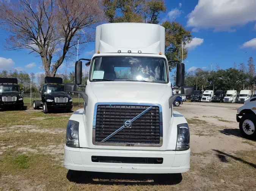
[(17, 83), (16, 78), (0, 78), (0, 108), (24, 108), (23, 97)]

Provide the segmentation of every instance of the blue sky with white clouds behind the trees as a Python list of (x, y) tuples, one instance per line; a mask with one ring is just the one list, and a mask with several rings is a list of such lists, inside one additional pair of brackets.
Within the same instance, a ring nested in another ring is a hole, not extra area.
[[(167, 11), (161, 14), (161, 22), (173, 20), (192, 29), (193, 40), (187, 45), (188, 57), (184, 60), (186, 70), (208, 69), (210, 63), (230, 68), (256, 59), (256, 1), (255, 0), (165, 0)], [(241, 4), (242, 2), (242, 4)], [(22, 70), (27, 73), (44, 72), (41, 57), (28, 51), (6, 51), (7, 34), (0, 30), (0, 71)], [(80, 51), (80, 58), (91, 58), (94, 43)], [(74, 58), (76, 60), (76, 57)], [(70, 63), (69, 63), (70, 64)], [(64, 63), (58, 72), (66, 69)], [(67, 68), (68, 71), (74, 68)], [(57, 72), (57, 73), (58, 73)]]

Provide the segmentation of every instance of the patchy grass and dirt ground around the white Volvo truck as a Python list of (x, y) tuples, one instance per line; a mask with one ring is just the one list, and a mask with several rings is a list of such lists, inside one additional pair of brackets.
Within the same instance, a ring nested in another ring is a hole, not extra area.
[(240, 136), (240, 106), (184, 102), (174, 107), (190, 126), (192, 153), (190, 171), (172, 175), (74, 176), (63, 167), (65, 129), (72, 113), (43, 114), (30, 107), (0, 111), (0, 191), (256, 190), (256, 142)]

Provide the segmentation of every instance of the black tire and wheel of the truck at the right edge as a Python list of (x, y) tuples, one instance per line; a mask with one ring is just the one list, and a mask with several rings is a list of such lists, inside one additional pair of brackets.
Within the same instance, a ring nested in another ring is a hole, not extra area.
[(240, 133), (247, 139), (256, 139), (256, 116), (245, 114), (239, 121)]

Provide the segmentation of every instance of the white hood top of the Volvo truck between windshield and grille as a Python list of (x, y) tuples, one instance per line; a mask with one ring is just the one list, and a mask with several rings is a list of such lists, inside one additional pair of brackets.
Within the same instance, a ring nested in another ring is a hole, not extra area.
[(159, 103), (168, 88), (167, 84), (150, 82), (97, 82), (90, 86), (98, 102), (132, 103)]

